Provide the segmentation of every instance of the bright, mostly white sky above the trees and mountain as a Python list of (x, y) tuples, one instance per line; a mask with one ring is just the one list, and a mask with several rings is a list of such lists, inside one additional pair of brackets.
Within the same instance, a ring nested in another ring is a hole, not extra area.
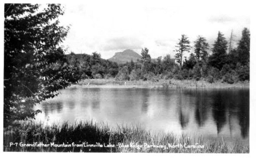
[(63, 6), (61, 25), (70, 26), (63, 42), (68, 52), (98, 52), (104, 59), (125, 49), (140, 53), (144, 47), (152, 58), (174, 57), (181, 34), (189, 37), (192, 46), (198, 35), (212, 46), (218, 31), (229, 39), (233, 30), (238, 41), (243, 28), (250, 27), (247, 0), (94, 0)]

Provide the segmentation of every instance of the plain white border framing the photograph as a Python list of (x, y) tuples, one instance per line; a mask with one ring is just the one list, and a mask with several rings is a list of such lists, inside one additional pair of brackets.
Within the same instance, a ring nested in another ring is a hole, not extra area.
[[(103, 1), (103, 0), (97, 0), (97, 1)], [(114, 4), (116, 0), (108, 0), (110, 4)], [(141, 1), (141, 0), (140, 0)], [(142, 0), (144, 3), (160, 3), (161, 0)], [(193, 1), (192, 0), (183, 0), (184, 3), (190, 1), (190, 3)], [(230, 6), (232, 7), (232, 3), (234, 0), (228, 0), (230, 2)], [(250, 32), (251, 32), (251, 50), (250, 50), (250, 130), (249, 130), (249, 137), (250, 137), (250, 153), (249, 154), (184, 154), (184, 153), (168, 153), (168, 154), (159, 154), (159, 153), (53, 153), (53, 152), (48, 152), (48, 153), (34, 153), (34, 152), (3, 152), (3, 22), (4, 22), (4, 3), (85, 3), (86, 0), (3, 0), (2, 3), (0, 4), (0, 13), (2, 20), (0, 22), (1, 25), (1, 31), (0, 31), (0, 155), (2, 158), (7, 158), (7, 157), (12, 157), (12, 158), (20, 158), (20, 157), (39, 157), (39, 158), (45, 158), (45, 157), (132, 157), (132, 156), (137, 156), (137, 157), (196, 157), (196, 158), (205, 158), (205, 157), (213, 157), (216, 158), (218, 157), (241, 157), (241, 156), (246, 156), (246, 157), (251, 157), (255, 158), (256, 155), (256, 137), (254, 134), (256, 134), (256, 128), (255, 128), (255, 122), (256, 120), (256, 97), (254, 94), (256, 94), (256, 11), (255, 11), (255, 6), (256, 3), (253, 2), (253, 0), (239, 0), (241, 3), (248, 3), (248, 9), (251, 10), (251, 26), (250, 26)], [(129, 0), (129, 2), (134, 2), (134, 0)], [(170, 3), (175, 3), (174, 0), (169, 0)], [(220, 2), (221, 5), (221, 2)], [(193, 6), (191, 6), (193, 7)]]

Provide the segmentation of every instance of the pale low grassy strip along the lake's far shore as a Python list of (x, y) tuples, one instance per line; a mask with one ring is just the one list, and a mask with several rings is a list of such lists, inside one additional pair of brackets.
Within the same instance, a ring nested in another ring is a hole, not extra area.
[(195, 81), (195, 80), (175, 80), (161, 79), (158, 82), (153, 81), (116, 81), (115, 79), (83, 79), (76, 86), (86, 87), (123, 87), (123, 88), (158, 88), (158, 87), (169, 87), (169, 88), (249, 88), (249, 82), (236, 82), (228, 84), (226, 82), (213, 82), (209, 83), (206, 81)]

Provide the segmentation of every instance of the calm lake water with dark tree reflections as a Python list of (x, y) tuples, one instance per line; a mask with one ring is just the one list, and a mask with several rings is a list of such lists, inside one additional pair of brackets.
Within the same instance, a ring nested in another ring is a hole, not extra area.
[(140, 124), (152, 131), (209, 138), (249, 137), (249, 89), (69, 88), (37, 105), (48, 122)]

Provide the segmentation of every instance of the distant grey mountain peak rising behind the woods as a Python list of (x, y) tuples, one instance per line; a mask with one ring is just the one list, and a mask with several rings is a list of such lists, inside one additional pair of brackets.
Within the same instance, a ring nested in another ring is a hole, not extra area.
[(132, 49), (126, 49), (123, 52), (115, 53), (115, 55), (108, 60), (119, 64), (124, 64), (126, 62), (130, 62), (131, 60), (136, 61), (141, 57), (142, 56), (140, 56), (140, 54), (136, 53)]

